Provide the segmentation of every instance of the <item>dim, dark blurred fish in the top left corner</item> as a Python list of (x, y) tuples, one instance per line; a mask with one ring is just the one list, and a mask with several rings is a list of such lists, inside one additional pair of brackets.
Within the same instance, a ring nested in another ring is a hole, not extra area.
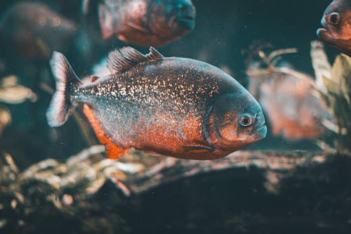
[(65, 46), (78, 26), (45, 4), (22, 2), (1, 15), (0, 34), (22, 56), (48, 59)]

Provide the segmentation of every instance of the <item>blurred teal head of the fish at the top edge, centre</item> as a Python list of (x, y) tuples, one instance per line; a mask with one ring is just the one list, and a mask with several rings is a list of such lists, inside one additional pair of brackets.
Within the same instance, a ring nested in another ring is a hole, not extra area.
[(191, 0), (154, 0), (148, 26), (161, 37), (181, 37), (195, 27), (196, 10)]

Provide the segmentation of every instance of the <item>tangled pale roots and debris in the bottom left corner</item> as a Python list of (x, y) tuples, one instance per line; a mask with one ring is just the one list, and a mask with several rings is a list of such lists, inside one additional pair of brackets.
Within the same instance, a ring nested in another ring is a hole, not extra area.
[[(84, 216), (88, 216), (88, 219), (98, 219), (96, 214), (92, 213), (100, 209), (101, 203), (94, 201), (93, 196), (96, 196), (106, 183), (112, 185), (111, 188), (121, 197), (130, 196), (131, 191), (121, 181), (128, 174), (143, 171), (143, 164), (107, 160), (100, 156), (100, 152), (104, 150), (103, 145), (93, 145), (69, 157), (66, 162), (48, 159), (33, 164), (24, 171), (16, 167), (11, 155), (2, 153), (0, 232), (8, 228), (18, 230), (35, 226), (38, 217), (54, 215), (57, 221), (61, 217), (71, 220), (73, 214), (81, 210), (86, 214), (81, 214), (76, 218), (77, 221), (83, 222)], [(117, 214), (113, 214), (113, 222), (118, 221), (116, 216)], [(106, 226), (106, 223), (109, 222), (102, 221), (103, 226)]]

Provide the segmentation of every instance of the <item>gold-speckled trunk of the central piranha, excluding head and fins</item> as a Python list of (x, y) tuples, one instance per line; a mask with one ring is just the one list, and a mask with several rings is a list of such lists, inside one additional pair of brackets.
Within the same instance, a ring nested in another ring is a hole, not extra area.
[[(208, 112), (218, 96), (228, 93), (244, 96), (247, 103), (243, 105), (258, 105), (244, 87), (217, 67), (188, 58), (164, 58), (76, 88), (71, 100), (91, 105), (121, 148), (194, 158), (186, 146), (210, 144), (204, 132)], [(218, 150), (201, 152), (199, 157), (223, 157), (234, 151)]]

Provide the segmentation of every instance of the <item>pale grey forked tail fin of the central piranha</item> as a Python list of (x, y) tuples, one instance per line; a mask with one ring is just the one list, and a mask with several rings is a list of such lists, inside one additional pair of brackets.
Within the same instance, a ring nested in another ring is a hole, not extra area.
[(80, 80), (62, 53), (54, 51), (50, 65), (56, 80), (56, 91), (53, 93), (46, 118), (48, 125), (61, 126), (74, 112), (75, 107), (71, 103), (70, 93), (72, 88), (80, 85)]

